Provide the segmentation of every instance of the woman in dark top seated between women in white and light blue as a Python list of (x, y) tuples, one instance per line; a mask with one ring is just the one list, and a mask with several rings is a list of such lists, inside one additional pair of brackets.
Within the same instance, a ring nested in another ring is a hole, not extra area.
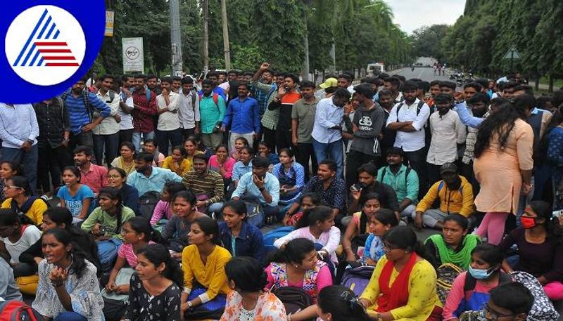
[[(380, 208), (381, 203), (379, 202), (379, 195), (377, 193), (371, 192), (365, 195), (362, 211), (354, 213), (342, 239), (342, 247), (346, 252), (346, 261), (356, 261), (358, 259), (352, 243), (354, 243), (356, 250), (358, 246), (365, 244), (367, 235), (369, 234), (369, 218), (374, 216)], [(354, 240), (355, 238), (357, 238), (357, 240)]]

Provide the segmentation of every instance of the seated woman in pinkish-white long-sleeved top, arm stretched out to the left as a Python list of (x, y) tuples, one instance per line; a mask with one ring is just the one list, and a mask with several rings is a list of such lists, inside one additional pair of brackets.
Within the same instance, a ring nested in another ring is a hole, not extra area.
[(329, 207), (318, 206), (304, 211), (295, 228), (293, 232), (277, 239), (274, 247), (283, 247), (287, 242), (302, 237), (321, 244), (319, 255), (330, 256), (330, 261), (338, 266), (339, 259), (335, 251), (340, 244), (340, 230), (334, 226), (334, 213)]

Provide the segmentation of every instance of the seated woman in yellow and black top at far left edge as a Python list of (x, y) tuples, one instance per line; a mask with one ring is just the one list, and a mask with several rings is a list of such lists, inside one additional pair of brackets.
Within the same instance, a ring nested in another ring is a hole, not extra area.
[(27, 178), (12, 176), (6, 180), (4, 195), (6, 200), (2, 202), (2, 209), (12, 209), (15, 213), (24, 213), (35, 225), (43, 223), (43, 212), (47, 210), (47, 203), (39, 196), (31, 195), (30, 184)]

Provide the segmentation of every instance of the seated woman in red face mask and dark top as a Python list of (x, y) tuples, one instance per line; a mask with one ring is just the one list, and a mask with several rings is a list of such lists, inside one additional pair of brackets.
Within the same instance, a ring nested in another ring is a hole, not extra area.
[(521, 228), (512, 230), (499, 247), (508, 253), (516, 244), (519, 261), (510, 266), (507, 260), (502, 269), (519, 270), (535, 276), (545, 294), (554, 301), (563, 299), (563, 240), (559, 220), (552, 216), (550, 205), (543, 201), (529, 202), (520, 217)]

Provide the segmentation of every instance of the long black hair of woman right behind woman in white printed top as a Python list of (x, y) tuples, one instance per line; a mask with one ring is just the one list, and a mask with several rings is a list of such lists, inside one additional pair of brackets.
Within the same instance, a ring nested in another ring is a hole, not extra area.
[(75, 240), (75, 242), (77, 242), (77, 240), (87, 241), (81, 242), (81, 244), (77, 242), (77, 245), (80, 249), (82, 249), (82, 251), (84, 251), (88, 261), (98, 268), (98, 276), (101, 276), (103, 270), (101, 269), (100, 258), (98, 256), (98, 244), (96, 244), (96, 242), (94, 242), (94, 240), (92, 240), (86, 232), (80, 230), (80, 228), (77, 228), (76, 225), (72, 224), (72, 213), (70, 213), (70, 210), (66, 207), (49, 207), (49, 209), (44, 211), (43, 216), (49, 216), (49, 219), (57, 226), (64, 223), (64, 229), (70, 234), (72, 240)]

